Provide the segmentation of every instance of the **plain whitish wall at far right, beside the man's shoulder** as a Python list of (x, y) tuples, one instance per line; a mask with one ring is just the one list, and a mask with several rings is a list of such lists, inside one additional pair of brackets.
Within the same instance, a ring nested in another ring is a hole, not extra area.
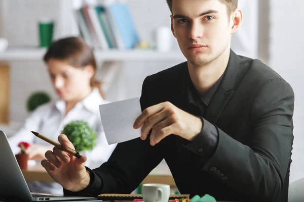
[(270, 66), (295, 93), (294, 145), (290, 181), (304, 177), (304, 1), (270, 1)]

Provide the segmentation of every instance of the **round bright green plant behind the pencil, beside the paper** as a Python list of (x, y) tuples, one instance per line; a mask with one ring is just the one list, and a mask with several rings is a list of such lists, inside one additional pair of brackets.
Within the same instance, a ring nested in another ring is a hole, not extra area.
[(92, 150), (96, 145), (97, 132), (85, 121), (71, 121), (61, 133), (68, 137), (77, 151)]

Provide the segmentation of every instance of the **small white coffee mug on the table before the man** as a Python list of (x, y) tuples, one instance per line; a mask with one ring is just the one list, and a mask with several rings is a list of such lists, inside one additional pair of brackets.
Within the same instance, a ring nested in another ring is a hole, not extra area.
[(170, 197), (170, 185), (143, 184), (141, 192), (144, 202), (168, 202)]

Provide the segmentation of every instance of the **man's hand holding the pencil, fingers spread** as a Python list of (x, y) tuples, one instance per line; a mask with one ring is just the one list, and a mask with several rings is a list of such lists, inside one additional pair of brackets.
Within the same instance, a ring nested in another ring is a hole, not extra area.
[[(64, 148), (75, 149), (64, 134), (58, 136), (58, 141)], [(90, 174), (84, 165), (87, 160), (85, 156), (78, 159), (54, 147), (53, 151), (46, 152), (45, 157), (47, 160), (42, 160), (41, 165), (63, 188), (70, 191), (80, 191), (89, 185)]]

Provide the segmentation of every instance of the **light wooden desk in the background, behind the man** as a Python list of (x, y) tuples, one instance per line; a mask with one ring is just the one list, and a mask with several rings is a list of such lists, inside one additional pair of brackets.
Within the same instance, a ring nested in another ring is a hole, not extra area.
[[(161, 183), (176, 187), (171, 173), (168, 173), (166, 169), (162, 169), (164, 166), (165, 165), (160, 164), (159, 167), (151, 172), (141, 183)], [(26, 181), (54, 182), (53, 178), (51, 178), (41, 166), (40, 162), (37, 162), (34, 166), (29, 166), (27, 170), (22, 170), (22, 174)]]

